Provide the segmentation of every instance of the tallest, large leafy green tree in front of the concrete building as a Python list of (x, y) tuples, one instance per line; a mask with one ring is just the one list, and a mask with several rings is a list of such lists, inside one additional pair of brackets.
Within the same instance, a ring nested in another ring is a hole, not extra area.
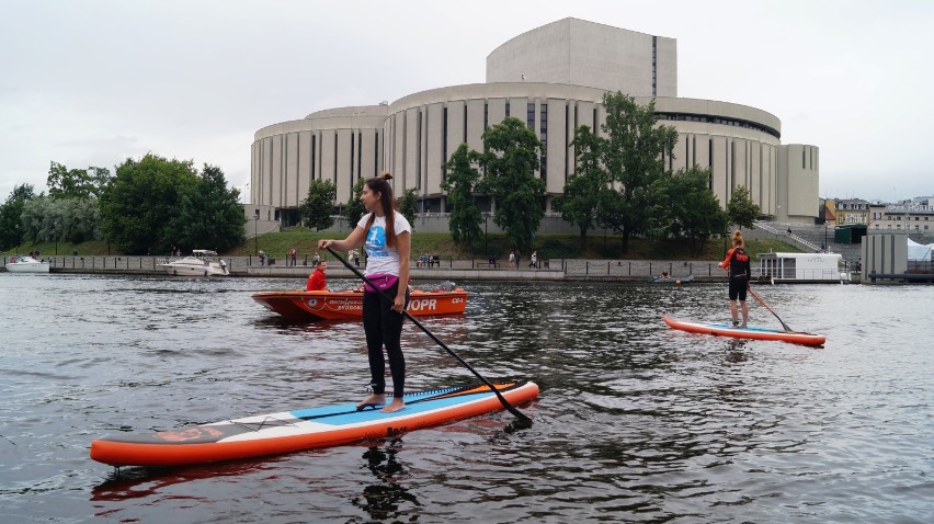
[(677, 130), (657, 125), (654, 100), (642, 106), (631, 96), (607, 92), (603, 105), (601, 159), (615, 189), (601, 192), (597, 223), (622, 235), (626, 253), (633, 235), (653, 236), (662, 229), (658, 210), (664, 201), (664, 163), (673, 158)]

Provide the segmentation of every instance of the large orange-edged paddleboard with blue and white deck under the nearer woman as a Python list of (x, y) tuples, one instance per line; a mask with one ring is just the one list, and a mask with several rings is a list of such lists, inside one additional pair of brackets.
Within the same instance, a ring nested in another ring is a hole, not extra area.
[[(531, 381), (494, 384), (511, 405), (538, 396)], [(389, 397), (391, 398), (391, 397)], [(225, 420), (91, 442), (91, 458), (112, 466), (182, 466), (329, 447), (403, 433), (503, 409), (486, 385), (408, 394), (406, 408), (356, 410), (346, 403)]]

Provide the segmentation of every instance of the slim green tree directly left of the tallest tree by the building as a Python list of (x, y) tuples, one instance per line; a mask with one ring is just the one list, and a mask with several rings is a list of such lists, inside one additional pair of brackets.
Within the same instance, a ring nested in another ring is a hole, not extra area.
[(604, 141), (590, 127), (574, 130), (574, 172), (565, 185), (565, 194), (556, 198), (565, 221), (581, 230), (580, 249), (586, 243), (586, 231), (596, 226), (600, 193), (607, 189), (607, 174), (600, 163)]

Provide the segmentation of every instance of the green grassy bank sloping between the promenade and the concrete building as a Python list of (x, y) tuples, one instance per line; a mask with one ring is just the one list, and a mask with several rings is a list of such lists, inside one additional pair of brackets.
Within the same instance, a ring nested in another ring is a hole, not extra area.
[[(270, 257), (282, 259), (289, 249), (295, 248), (300, 258), (314, 255), (317, 251), (318, 239), (343, 238), (333, 231), (311, 231), (304, 228), (295, 228), (283, 232), (271, 232), (260, 235), (255, 239), (248, 239), (243, 244), (221, 254), (228, 257), (247, 257), (257, 254), (258, 250), (265, 251)], [(535, 239), (534, 249), (538, 251), (539, 259), (625, 259), (625, 260), (719, 260), (724, 257), (725, 241), (721, 238), (707, 242), (699, 255), (691, 254), (691, 244), (686, 240), (658, 240), (648, 241), (641, 238), (629, 240), (629, 252), (623, 254), (619, 248), (619, 237), (607, 235), (592, 235), (586, 239), (586, 246), (580, 249), (577, 235), (539, 235)], [(210, 246), (195, 246), (197, 249), (212, 249)], [(3, 254), (29, 253), (39, 250), (43, 257), (70, 255), (77, 251), (79, 255), (119, 255), (115, 248), (105, 240), (94, 240), (72, 244), (70, 242), (41, 242), (20, 246), (19, 251), (9, 250)], [(770, 251), (799, 252), (800, 250), (783, 240), (749, 239), (747, 251), (750, 253), (765, 253)], [(442, 258), (469, 259), (470, 257), (482, 257), (489, 252), (501, 258), (509, 255), (509, 242), (504, 235), (490, 235), (487, 238), (487, 249), (481, 244), (477, 250), (465, 250), (451, 239), (451, 235), (442, 232), (415, 232), (412, 235), (413, 258), (421, 253), (432, 253)], [(149, 253), (153, 255), (168, 253)], [(527, 258), (529, 253), (523, 253)]]

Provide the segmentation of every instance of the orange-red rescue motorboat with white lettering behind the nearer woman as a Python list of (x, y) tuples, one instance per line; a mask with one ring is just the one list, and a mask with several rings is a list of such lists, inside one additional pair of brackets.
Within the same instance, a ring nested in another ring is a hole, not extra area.
[[(266, 309), (293, 320), (354, 320), (363, 318), (363, 292), (260, 292), (253, 300)], [(459, 315), (467, 306), (467, 292), (420, 291), (410, 293), (409, 314), (413, 317), (429, 315)]]

